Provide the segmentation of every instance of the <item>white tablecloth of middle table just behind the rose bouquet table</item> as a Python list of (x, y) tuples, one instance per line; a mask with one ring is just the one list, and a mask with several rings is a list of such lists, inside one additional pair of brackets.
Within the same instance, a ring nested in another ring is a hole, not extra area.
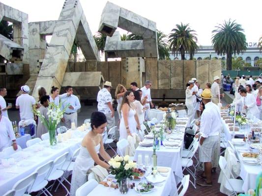
[[(177, 121), (181, 119), (187, 119), (187, 118), (177, 118)], [(156, 150), (157, 154), (157, 165), (162, 166), (162, 167), (170, 167), (172, 168), (172, 171), (175, 174), (175, 181), (176, 183), (179, 183), (181, 179), (183, 178), (183, 172), (182, 172), (182, 166), (181, 166), (181, 156), (180, 156), (180, 151), (183, 148), (183, 138), (184, 138), (184, 131), (185, 131), (185, 124), (176, 124), (175, 129), (179, 129), (182, 132), (182, 140), (180, 142), (179, 147), (174, 147), (174, 148), (169, 148), (169, 147), (164, 147), (160, 146), (159, 150)], [(173, 133), (172, 135), (175, 135), (176, 133)], [(168, 134), (169, 135), (169, 134)], [(169, 137), (167, 135), (167, 137)], [(138, 160), (138, 155), (142, 155), (142, 160), (143, 162), (144, 157), (146, 154), (149, 155), (149, 157), (152, 156), (153, 154), (153, 147), (137, 147), (134, 160)]]

